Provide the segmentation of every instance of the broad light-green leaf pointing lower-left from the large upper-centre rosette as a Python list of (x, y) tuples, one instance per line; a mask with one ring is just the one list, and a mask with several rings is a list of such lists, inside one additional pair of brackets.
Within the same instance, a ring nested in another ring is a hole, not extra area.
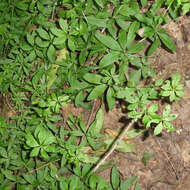
[(110, 53), (106, 54), (100, 61), (99, 67), (104, 68), (109, 65), (112, 65), (114, 62), (118, 61), (120, 58), (120, 53), (117, 51), (111, 51)]

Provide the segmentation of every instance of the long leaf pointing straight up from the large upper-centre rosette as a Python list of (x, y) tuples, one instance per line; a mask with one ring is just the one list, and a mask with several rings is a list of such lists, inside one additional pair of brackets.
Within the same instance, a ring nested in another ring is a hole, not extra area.
[(134, 41), (134, 39), (136, 37), (136, 32), (138, 31), (139, 27), (140, 27), (140, 24), (137, 21), (134, 21), (130, 25), (129, 31), (127, 34), (127, 44), (126, 44), (127, 48), (130, 48), (131, 43)]

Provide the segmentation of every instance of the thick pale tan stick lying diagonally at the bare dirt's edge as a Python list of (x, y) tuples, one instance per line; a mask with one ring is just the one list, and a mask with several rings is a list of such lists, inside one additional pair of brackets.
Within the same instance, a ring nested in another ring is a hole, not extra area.
[(117, 148), (121, 140), (126, 136), (129, 129), (133, 126), (133, 124), (137, 121), (137, 119), (133, 119), (129, 125), (125, 127), (125, 129), (122, 131), (118, 139), (115, 141), (115, 143), (112, 145), (110, 150), (102, 157), (100, 162), (93, 168), (92, 172), (96, 172), (97, 169), (106, 161), (106, 159), (112, 154), (112, 152)]

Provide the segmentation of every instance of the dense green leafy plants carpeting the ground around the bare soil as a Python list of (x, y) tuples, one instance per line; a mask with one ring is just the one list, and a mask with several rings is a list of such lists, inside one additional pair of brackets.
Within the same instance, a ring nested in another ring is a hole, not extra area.
[[(129, 138), (173, 131), (180, 74), (158, 79), (148, 58), (158, 47), (176, 50), (162, 26), (189, 10), (188, 0), (1, 0), (0, 189), (140, 189), (116, 166), (110, 183), (95, 174), (114, 142), (101, 133), (104, 106), (88, 128), (61, 109), (70, 102), (91, 109), (100, 98), (108, 111), (120, 100), (126, 117), (144, 126), (127, 131)], [(168, 102), (162, 114), (157, 100)], [(116, 150), (136, 152), (122, 139)]]

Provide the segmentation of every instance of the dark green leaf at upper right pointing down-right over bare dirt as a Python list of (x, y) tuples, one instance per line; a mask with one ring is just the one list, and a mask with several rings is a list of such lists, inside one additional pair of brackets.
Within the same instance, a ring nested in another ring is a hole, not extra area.
[(171, 40), (171, 38), (164, 29), (160, 29), (158, 31), (158, 35), (166, 47), (168, 47), (171, 51), (176, 51), (176, 46), (173, 40)]

